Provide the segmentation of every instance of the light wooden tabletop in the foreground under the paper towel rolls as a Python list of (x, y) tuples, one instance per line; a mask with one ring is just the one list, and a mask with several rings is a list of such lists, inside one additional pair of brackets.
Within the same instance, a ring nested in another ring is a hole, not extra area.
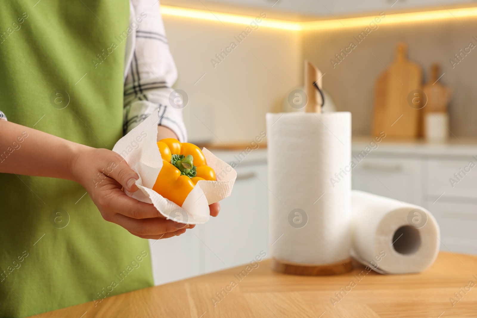
[[(477, 256), (441, 252), (424, 273), (386, 276), (371, 271), (361, 280), (357, 276), (364, 267), (357, 264), (344, 275), (305, 277), (272, 272), (270, 260), (264, 260), (239, 281), (234, 275), (245, 268), (105, 298), (97, 307), (90, 302), (38, 317), (477, 317)], [(228, 287), (232, 280), (236, 286)], [(354, 287), (348, 287), (351, 281)], [(474, 287), (468, 287), (470, 281)], [(222, 288), (231, 291), (227, 295)], [(351, 290), (345, 294), (341, 288)], [(225, 295), (221, 300), (216, 295), (220, 292)], [(343, 295), (341, 300), (335, 293)], [(462, 295), (460, 300), (454, 293)], [(332, 297), (339, 300), (334, 306)], [(454, 307), (450, 297), (458, 300)]]

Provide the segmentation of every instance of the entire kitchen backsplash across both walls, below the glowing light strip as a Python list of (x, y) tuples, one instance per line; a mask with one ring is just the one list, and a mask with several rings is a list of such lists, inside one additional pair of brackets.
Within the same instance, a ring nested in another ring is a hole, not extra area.
[[(257, 10), (256, 16), (260, 13)], [(399, 41), (407, 44), (408, 58), (423, 68), (424, 82), (430, 64), (441, 63), (444, 75), (440, 81), (454, 91), (450, 130), (456, 136), (477, 137), (477, 49), (470, 44), (477, 45), (475, 19), (370, 21), (369, 30), (310, 32), (270, 29), (256, 23), (240, 41), (237, 37), (246, 29), (243, 25), (171, 16), (164, 21), (179, 72), (175, 88), (187, 92), (189, 98), (184, 116), (193, 141), (237, 144), (264, 131), (265, 113), (279, 112), (287, 94), (302, 85), (304, 59), (324, 73), (323, 89), (337, 110), (353, 114), (353, 134), (369, 134), (375, 81), (392, 61)], [(456, 62), (449, 62), (452, 59)]]

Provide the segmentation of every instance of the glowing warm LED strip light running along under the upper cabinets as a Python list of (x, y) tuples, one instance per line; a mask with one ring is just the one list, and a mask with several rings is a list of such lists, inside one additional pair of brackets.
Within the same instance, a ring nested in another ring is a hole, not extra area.
[[(172, 6), (161, 6), (161, 12), (164, 15), (171, 15), (177, 17), (187, 17), (208, 21), (222, 21), (241, 25), (249, 25), (256, 17), (237, 15), (222, 12), (211, 12), (206, 10), (187, 9)], [(402, 22), (415, 22), (415, 21), (430, 21), (430, 20), (443, 20), (443, 19), (455, 19), (455, 18), (467, 18), (476, 17), (477, 7), (474, 8), (461, 8), (461, 9), (449, 9), (449, 10), (435, 10), (435, 11), (423, 11), (423, 12), (411, 12), (411, 13), (391, 13), (386, 14), (386, 17), (382, 19), (379, 24), (390, 23), (402, 23)], [(329, 29), (341, 29), (350, 27), (359, 27), (368, 25), (374, 20), (376, 16), (359, 17), (359, 18), (345, 18), (322, 21), (308, 21), (308, 22), (293, 22), (276, 19), (263, 19), (260, 22), (260, 26), (290, 30), (290, 31), (316, 31), (316, 30), (329, 30)]]

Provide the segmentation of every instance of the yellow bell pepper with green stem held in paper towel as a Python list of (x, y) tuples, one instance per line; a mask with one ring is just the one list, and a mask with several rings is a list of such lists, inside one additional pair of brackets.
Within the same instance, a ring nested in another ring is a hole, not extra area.
[(182, 206), (197, 181), (216, 180), (214, 169), (195, 144), (166, 138), (158, 141), (157, 147), (163, 166), (152, 189), (177, 205)]

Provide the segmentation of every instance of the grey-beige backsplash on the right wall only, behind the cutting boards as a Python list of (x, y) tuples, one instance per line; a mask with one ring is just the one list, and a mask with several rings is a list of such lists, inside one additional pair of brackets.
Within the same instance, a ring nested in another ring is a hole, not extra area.
[[(431, 63), (441, 64), (444, 75), (440, 81), (454, 91), (449, 107), (451, 132), (477, 137), (477, 21), (459, 18), (375, 25), (360, 38), (365, 27), (309, 32), (303, 37), (303, 56), (326, 73), (323, 88), (333, 96), (338, 110), (353, 113), (353, 134), (370, 133), (376, 78), (392, 62), (395, 44), (403, 41), (409, 60), (423, 68), (424, 82), (429, 79)], [(355, 47), (338, 60), (336, 54), (351, 42)]]

